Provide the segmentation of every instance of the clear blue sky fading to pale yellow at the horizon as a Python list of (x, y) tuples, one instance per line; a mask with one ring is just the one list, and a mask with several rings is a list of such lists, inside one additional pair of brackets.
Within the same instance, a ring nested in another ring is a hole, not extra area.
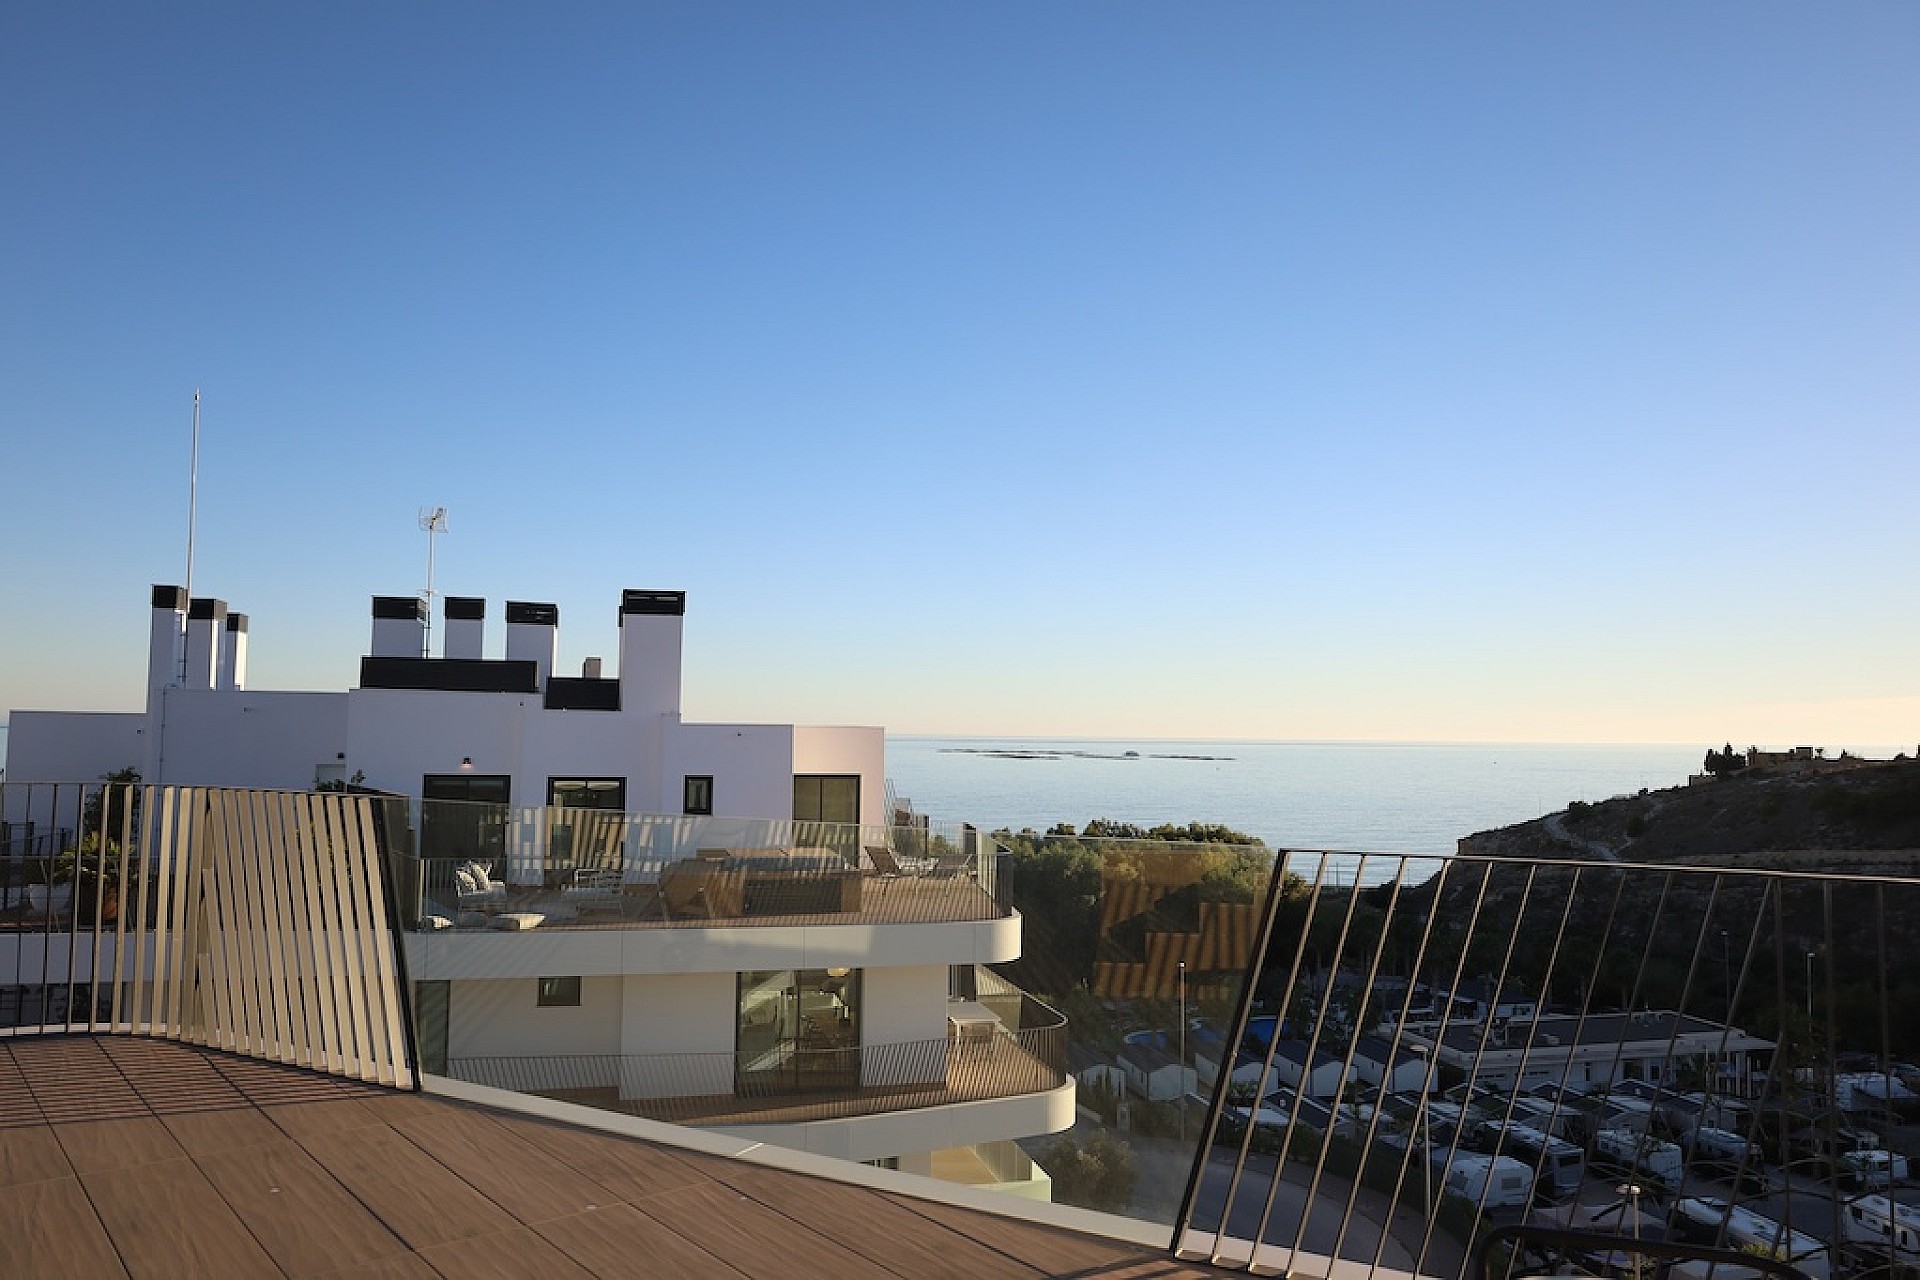
[(1920, 741), (1920, 6), (0, 8), (0, 708), (684, 587), (685, 710)]

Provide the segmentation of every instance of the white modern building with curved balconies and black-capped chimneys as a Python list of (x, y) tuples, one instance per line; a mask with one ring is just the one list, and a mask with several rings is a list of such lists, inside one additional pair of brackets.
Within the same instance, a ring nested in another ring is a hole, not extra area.
[(507, 603), (488, 656), (449, 597), (428, 654), (422, 603), (376, 597), (344, 693), (250, 689), (242, 614), (152, 601), (146, 708), (13, 712), (10, 796), (127, 766), (394, 796), (422, 1071), (1046, 1194), (1014, 1140), (1069, 1128), (1073, 1080), (983, 969), (1021, 933), (991, 842), (889, 825), (877, 727), (685, 722), (685, 593), (622, 593), (611, 676), (557, 674), (553, 604)]

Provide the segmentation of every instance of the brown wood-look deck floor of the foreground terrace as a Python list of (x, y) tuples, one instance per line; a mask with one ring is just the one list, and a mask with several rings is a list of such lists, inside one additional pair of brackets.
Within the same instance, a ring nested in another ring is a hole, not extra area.
[(0, 1276), (1229, 1274), (134, 1038), (0, 1042)]

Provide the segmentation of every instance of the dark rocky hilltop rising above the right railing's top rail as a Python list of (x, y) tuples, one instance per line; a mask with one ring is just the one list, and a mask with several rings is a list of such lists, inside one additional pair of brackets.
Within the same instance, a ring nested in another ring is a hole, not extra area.
[(1920, 873), (1920, 760), (1716, 777), (1574, 802), (1459, 842), (1463, 854)]

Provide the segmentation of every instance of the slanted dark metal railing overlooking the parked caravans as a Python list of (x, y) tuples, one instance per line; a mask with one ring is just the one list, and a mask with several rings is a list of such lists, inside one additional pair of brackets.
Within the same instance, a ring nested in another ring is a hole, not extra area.
[(1613, 1213), (1912, 1265), (1859, 1224), (1901, 1153), (1855, 1155), (1920, 1119), (1916, 940), (1889, 875), (1283, 854), (1179, 1245), (1453, 1276), (1488, 1222)]

